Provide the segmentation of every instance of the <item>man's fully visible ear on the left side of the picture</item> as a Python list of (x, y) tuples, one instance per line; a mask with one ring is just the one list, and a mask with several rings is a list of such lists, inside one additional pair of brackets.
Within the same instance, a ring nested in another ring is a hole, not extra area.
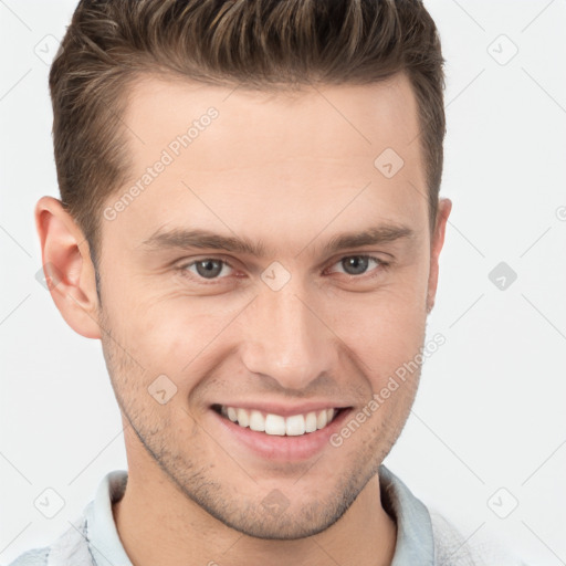
[(86, 338), (101, 338), (98, 295), (88, 242), (60, 200), (35, 205), (43, 272), (51, 296), (69, 326)]

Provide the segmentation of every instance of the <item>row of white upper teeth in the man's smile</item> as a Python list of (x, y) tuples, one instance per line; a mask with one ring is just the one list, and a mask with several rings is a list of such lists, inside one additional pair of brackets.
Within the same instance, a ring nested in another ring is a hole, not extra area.
[(237, 422), (240, 427), (250, 427), (251, 430), (265, 432), (266, 434), (277, 434), (280, 437), (297, 437), (305, 432), (314, 432), (323, 429), (328, 424), (336, 415), (335, 409), (322, 409), (319, 411), (311, 411), (305, 415), (293, 415), (291, 417), (282, 417), (271, 412), (262, 413), (255, 409), (241, 409), (234, 407), (221, 408), (221, 413), (228, 417), (232, 422)]

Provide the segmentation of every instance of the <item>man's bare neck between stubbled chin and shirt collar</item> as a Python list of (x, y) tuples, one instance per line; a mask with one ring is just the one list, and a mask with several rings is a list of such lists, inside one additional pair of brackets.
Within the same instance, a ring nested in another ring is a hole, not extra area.
[[(128, 474), (124, 497), (113, 505), (114, 521), (135, 566), (390, 565), (396, 525), (381, 505), (375, 475), (348, 511), (317, 535), (272, 541), (244, 535), (188, 500), (171, 482)], [(157, 544), (159, 543), (159, 544)]]

